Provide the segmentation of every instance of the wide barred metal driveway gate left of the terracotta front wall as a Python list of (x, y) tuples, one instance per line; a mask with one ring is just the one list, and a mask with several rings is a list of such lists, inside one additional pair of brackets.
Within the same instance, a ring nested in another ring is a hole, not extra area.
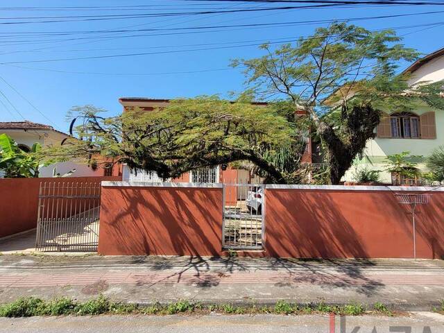
[(35, 249), (96, 251), (100, 190), (100, 182), (41, 182)]

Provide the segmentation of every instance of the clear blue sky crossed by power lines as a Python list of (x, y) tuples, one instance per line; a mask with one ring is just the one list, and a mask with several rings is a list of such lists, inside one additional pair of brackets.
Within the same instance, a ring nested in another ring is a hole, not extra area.
[[(129, 10), (131, 8), (128, 7), (112, 8), (112, 6), (146, 6), (147, 4), (153, 7), (138, 7), (132, 10)], [(21, 7), (22, 10), (6, 8), (12, 6)], [(60, 9), (61, 6), (82, 6), (85, 8), (69, 8), (67, 10), (68, 8)], [(100, 8), (91, 8), (92, 6), (99, 6)], [(103, 8), (103, 6), (107, 7)], [(193, 2), (179, 0), (77, 0), (63, 2), (18, 0), (11, 1), (8, 5), (1, 5), (0, 23), (57, 20), (48, 17), (76, 16), (76, 18), (70, 18), (70, 20), (74, 20), (82, 19), (78, 18), (78, 16), (85, 15), (143, 15), (146, 13), (194, 12), (218, 9), (235, 10), (237, 8), (276, 6), (288, 6), (288, 4), (214, 3), (212, 1)], [(297, 6), (297, 4), (294, 6)], [(25, 8), (26, 10), (24, 10)], [(221, 94), (226, 96), (229, 91), (241, 90), (244, 83), (244, 77), (238, 69), (228, 68), (230, 59), (253, 58), (262, 55), (262, 51), (257, 49), (257, 46), (229, 47), (225, 49), (211, 48), (257, 44), (267, 40), (276, 41), (279, 39), (284, 40), (287, 37), (307, 36), (314, 31), (316, 26), (326, 26), (327, 24), (262, 26), (260, 28), (216, 28), (212, 29), (216, 31), (205, 31), (205, 33), (179, 31), (180, 34), (177, 34), (178, 31), (128, 31), (67, 35), (67, 33), (73, 31), (187, 28), (300, 22), (401, 15), (438, 10), (444, 10), (444, 6), (393, 7), (369, 5), (365, 8), (354, 6), (352, 8), (287, 9), (173, 17), (125, 17), (124, 19), (80, 22), (0, 24), (0, 40), (2, 40), (3, 44), (0, 50), (0, 77), (3, 78), (3, 80), (0, 80), (0, 91), (2, 93), (0, 94), (0, 121), (19, 121), (24, 118), (30, 121), (48, 123), (60, 130), (66, 131), (68, 123), (65, 121), (65, 114), (74, 105), (96, 105), (109, 110), (109, 115), (112, 115), (121, 112), (121, 105), (118, 102), (121, 96), (150, 98), (189, 97), (200, 94)], [(19, 18), (10, 19), (11, 17)], [(34, 17), (46, 18), (35, 19)], [(422, 53), (430, 53), (444, 47), (443, 17), (443, 13), (435, 13), (410, 17), (368, 19), (352, 23), (368, 29), (416, 26), (400, 28), (398, 33), (400, 35), (405, 34), (404, 44), (406, 46), (418, 49)], [(66, 20), (67, 18), (62, 19)], [(443, 24), (422, 26), (423, 24), (435, 22), (443, 22)], [(46, 33), (46, 35), (40, 35), (40, 33)], [(47, 33), (59, 33), (59, 35), (49, 35)], [(132, 35), (142, 36), (130, 37)], [(207, 50), (180, 51), (190, 49)], [(180, 52), (40, 62), (40, 60), (165, 51)], [(402, 68), (406, 65), (402, 64)], [(78, 72), (90, 74), (80, 74)], [(178, 74), (177, 72), (193, 73)]]

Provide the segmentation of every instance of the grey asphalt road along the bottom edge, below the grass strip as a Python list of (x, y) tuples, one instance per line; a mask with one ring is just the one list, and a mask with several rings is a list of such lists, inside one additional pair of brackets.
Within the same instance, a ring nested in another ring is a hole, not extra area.
[[(345, 330), (342, 331), (340, 318), (336, 316), (334, 321), (335, 330), (332, 331), (330, 330), (332, 321), (329, 316), (226, 316), (214, 314), (206, 316), (68, 316), (46, 318), (0, 318), (0, 332), (444, 332), (444, 316), (430, 312), (412, 313), (409, 316), (401, 317), (346, 317)], [(360, 329), (356, 330), (356, 326), (360, 326)], [(373, 330), (374, 327), (375, 330)], [(427, 327), (429, 327), (429, 330)]]

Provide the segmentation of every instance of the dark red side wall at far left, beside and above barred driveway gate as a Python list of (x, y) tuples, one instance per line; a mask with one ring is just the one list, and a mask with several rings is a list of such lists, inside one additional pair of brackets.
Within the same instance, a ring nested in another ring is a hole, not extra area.
[(101, 182), (121, 177), (0, 178), (0, 238), (37, 226), (40, 182)]

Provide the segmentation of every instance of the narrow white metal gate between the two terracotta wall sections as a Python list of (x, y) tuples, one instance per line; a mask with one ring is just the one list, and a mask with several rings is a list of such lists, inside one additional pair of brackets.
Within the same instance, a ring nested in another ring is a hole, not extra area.
[(223, 184), (223, 248), (262, 249), (265, 185)]

